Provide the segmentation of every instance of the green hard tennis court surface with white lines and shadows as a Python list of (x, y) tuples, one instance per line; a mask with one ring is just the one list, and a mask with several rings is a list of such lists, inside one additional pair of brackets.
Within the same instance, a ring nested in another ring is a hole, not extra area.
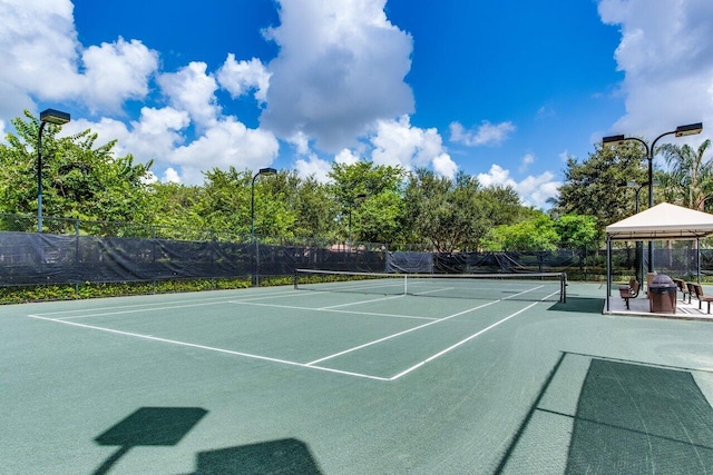
[(0, 472), (713, 472), (713, 324), (604, 316), (604, 294), (0, 307)]

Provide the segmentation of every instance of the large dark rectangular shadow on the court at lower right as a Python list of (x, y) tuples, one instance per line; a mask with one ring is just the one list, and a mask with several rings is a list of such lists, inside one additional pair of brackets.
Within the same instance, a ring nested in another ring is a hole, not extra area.
[(593, 359), (567, 474), (706, 473), (713, 409), (688, 372)]

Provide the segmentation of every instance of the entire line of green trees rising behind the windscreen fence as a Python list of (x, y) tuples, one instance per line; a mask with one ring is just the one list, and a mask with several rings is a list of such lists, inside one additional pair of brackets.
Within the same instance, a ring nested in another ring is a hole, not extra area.
[[(0, 212), (37, 212), (37, 138), (30, 112), (12, 120), (16, 133), (0, 144)], [(646, 182), (636, 145), (595, 147), (582, 162), (570, 158), (565, 184), (549, 212), (522, 206), (512, 187), (484, 186), (459, 172), (453, 179), (419, 168), (334, 162), (330, 180), (294, 170), (261, 176), (213, 168), (199, 186), (152, 180), (152, 162), (117, 157), (116, 140), (96, 146), (91, 130), (42, 135), (43, 214), (91, 221), (150, 224), (176, 229), (229, 230), (248, 237), (383, 243), (391, 249), (548, 250), (599, 246), (604, 227), (634, 212), (633, 188)], [(658, 199), (709, 209), (713, 192), (710, 141), (699, 150), (663, 146), (670, 171), (656, 170)], [(642, 191), (639, 189), (639, 191)], [(643, 191), (642, 191), (643, 192)], [(31, 229), (27, 229), (31, 231)]]

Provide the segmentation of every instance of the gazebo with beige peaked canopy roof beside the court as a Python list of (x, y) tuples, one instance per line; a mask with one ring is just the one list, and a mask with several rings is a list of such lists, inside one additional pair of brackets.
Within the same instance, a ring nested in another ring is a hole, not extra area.
[[(662, 202), (634, 216), (606, 227), (606, 309), (609, 311), (612, 294), (612, 241), (614, 240), (668, 240), (696, 241), (713, 235), (713, 215), (695, 209)], [(700, 247), (700, 246), (696, 246)], [(701, 275), (700, 259), (697, 274)]]

